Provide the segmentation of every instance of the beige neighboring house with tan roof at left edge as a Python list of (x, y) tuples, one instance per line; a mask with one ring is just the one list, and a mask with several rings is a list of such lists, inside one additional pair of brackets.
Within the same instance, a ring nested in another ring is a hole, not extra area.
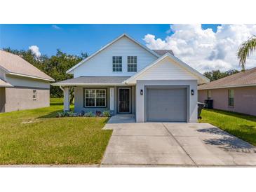
[(0, 50), (0, 113), (48, 107), (50, 81), (22, 57)]

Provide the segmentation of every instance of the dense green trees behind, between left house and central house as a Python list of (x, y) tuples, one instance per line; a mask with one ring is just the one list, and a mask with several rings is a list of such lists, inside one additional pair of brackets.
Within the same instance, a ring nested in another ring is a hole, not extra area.
[[(88, 57), (87, 53), (81, 53), (80, 55), (69, 55), (63, 53), (61, 50), (57, 50), (57, 53), (51, 57), (47, 55), (41, 55), (36, 57), (31, 50), (13, 50), (11, 48), (4, 48), (10, 53), (19, 55), (27, 62), (33, 64), (44, 73), (48, 74), (55, 79), (55, 81), (63, 81), (68, 78), (72, 78), (72, 75), (66, 74), (67, 69), (73, 67), (75, 64), (81, 62), (81, 60)], [(50, 86), (50, 97), (63, 97), (63, 92), (59, 87)], [(70, 92), (70, 102), (74, 99), (74, 90)]]

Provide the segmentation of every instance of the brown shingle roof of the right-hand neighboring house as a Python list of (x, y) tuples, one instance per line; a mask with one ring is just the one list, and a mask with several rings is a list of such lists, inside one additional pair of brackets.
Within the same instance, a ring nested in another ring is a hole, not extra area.
[(198, 90), (256, 85), (256, 67), (198, 86)]

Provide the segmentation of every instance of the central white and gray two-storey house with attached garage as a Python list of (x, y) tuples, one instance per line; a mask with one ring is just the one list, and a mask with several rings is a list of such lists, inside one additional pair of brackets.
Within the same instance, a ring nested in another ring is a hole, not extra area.
[(127, 34), (67, 71), (74, 78), (53, 83), (74, 87), (74, 111), (135, 114), (137, 122), (197, 122), (197, 85), (209, 80), (173, 55), (150, 50)]

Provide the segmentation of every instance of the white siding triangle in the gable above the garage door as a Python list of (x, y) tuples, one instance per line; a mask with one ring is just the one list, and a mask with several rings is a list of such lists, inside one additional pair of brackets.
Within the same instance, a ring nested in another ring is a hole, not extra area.
[(144, 71), (137, 80), (196, 80), (196, 76), (191, 72), (176, 64), (166, 57), (153, 67)]

